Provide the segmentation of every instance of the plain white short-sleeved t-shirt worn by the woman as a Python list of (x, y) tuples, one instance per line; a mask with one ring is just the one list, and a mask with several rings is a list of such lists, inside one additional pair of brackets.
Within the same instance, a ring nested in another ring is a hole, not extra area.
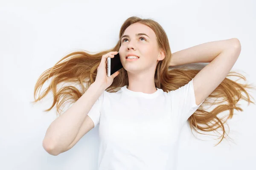
[(168, 93), (104, 91), (88, 113), (99, 124), (98, 170), (175, 170), (181, 127), (204, 102), (192, 80)]

